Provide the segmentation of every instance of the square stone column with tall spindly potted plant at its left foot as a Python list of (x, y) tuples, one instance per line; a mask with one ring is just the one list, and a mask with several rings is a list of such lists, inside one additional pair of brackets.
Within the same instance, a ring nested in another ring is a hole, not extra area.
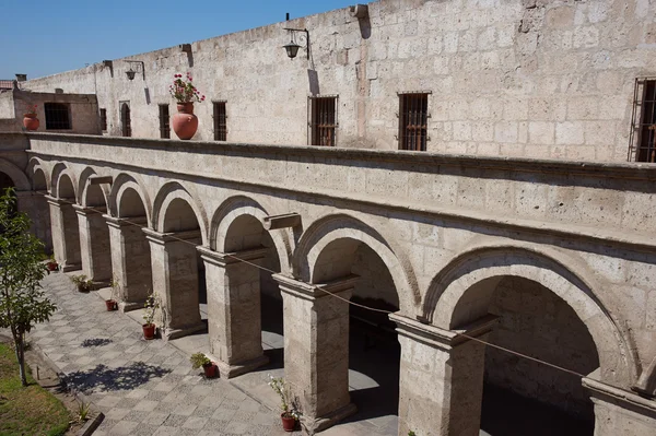
[(162, 304), (159, 325), (166, 339), (181, 338), (206, 325), (200, 318), (198, 261), (199, 231), (160, 233), (143, 228), (151, 248), (153, 292)]

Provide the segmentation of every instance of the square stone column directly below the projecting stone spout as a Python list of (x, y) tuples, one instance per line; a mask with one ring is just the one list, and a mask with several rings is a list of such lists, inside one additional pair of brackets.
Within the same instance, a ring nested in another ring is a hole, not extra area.
[[(355, 413), (349, 396), (349, 298), (358, 276), (320, 285), (281, 274), (284, 376), (303, 411), (308, 433)], [(330, 296), (335, 294), (337, 296)]]

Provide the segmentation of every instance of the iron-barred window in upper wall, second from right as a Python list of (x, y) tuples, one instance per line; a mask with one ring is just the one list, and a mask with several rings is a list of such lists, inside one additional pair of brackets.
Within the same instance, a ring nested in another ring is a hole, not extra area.
[(429, 94), (399, 94), (399, 150), (425, 151)]

